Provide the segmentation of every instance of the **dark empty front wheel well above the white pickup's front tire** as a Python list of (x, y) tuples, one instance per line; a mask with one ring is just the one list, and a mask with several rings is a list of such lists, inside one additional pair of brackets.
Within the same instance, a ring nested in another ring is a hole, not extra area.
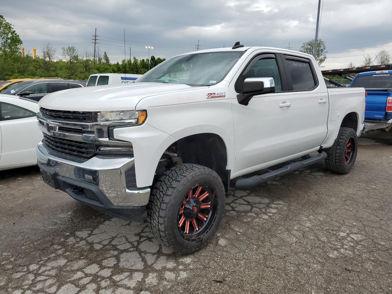
[[(177, 154), (178, 157), (173, 154)], [(176, 163), (194, 163), (215, 171), (225, 187), (229, 183), (230, 171), (226, 170), (227, 149), (223, 139), (217, 134), (203, 133), (181, 138), (166, 149), (162, 158), (166, 159), (165, 169), (160, 168), (158, 164), (157, 176), (161, 176)]]

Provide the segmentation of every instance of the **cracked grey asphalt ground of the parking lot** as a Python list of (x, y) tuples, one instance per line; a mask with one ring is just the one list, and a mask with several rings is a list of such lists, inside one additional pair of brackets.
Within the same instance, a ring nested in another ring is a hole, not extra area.
[(359, 143), (350, 174), (321, 163), (229, 192), (218, 233), (189, 256), (36, 167), (0, 172), (0, 293), (392, 293), (392, 136)]

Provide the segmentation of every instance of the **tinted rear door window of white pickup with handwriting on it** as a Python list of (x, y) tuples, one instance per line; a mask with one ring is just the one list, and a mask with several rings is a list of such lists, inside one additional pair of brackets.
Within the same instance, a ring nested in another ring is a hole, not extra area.
[(297, 60), (296, 58), (290, 58), (290, 56), (285, 57), (283, 62), (285, 62), (287, 75), (291, 78), (293, 90), (306, 91), (313, 89), (316, 82), (310, 62), (305, 61), (305, 59)]

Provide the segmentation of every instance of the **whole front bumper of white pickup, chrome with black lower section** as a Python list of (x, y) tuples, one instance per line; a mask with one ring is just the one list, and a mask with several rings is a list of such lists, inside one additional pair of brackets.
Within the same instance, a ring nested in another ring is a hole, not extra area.
[(133, 158), (94, 156), (79, 163), (56, 156), (43, 141), (36, 150), (38, 166), (52, 175), (56, 189), (120, 218), (144, 213), (150, 188), (129, 190), (126, 186), (125, 171), (134, 165)]

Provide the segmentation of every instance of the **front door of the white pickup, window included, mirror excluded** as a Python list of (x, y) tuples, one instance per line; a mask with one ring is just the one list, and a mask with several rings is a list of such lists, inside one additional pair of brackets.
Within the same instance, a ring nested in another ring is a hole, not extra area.
[[(275, 93), (253, 96), (248, 105), (233, 99), (234, 174), (252, 172), (294, 154), (287, 144), (292, 138), (292, 98), (290, 93), (282, 91), (282, 83), (285, 87), (282, 73), (283, 65), (275, 54), (261, 54), (254, 56), (239, 78), (274, 78)], [(232, 98), (237, 94), (230, 93)]]

